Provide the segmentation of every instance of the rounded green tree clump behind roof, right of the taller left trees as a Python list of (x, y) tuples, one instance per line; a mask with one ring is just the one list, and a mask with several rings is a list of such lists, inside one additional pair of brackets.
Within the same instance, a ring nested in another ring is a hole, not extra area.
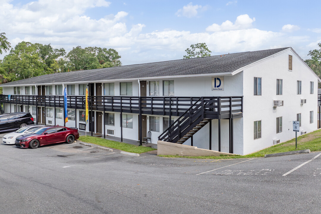
[(72, 70), (89, 70), (120, 66), (121, 56), (112, 48), (101, 47), (74, 47), (68, 54), (67, 60)]

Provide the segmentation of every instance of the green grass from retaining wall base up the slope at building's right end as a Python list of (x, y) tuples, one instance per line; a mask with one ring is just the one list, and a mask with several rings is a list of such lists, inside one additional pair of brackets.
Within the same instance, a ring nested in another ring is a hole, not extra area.
[[(197, 159), (227, 159), (227, 158), (258, 158), (264, 157), (265, 154), (273, 154), (286, 151), (305, 150), (321, 151), (321, 129), (304, 134), (298, 137), (298, 148), (295, 149), (295, 138), (283, 143), (278, 143), (274, 146), (260, 150), (249, 155), (221, 155), (221, 156), (184, 156), (184, 158), (197, 158)], [(159, 155), (160, 157), (168, 158), (181, 158), (178, 155)]]

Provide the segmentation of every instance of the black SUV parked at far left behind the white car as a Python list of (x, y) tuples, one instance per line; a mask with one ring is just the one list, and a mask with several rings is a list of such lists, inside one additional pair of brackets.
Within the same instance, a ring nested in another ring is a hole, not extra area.
[(0, 115), (0, 132), (16, 130), (22, 126), (33, 124), (33, 117), (29, 112), (17, 112)]

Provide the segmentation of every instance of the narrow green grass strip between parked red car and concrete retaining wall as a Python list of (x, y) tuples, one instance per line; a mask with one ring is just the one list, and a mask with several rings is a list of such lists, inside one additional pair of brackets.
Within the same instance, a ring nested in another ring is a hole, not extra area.
[(112, 149), (122, 150), (126, 152), (133, 152), (133, 153), (144, 153), (147, 151), (156, 150), (151, 147), (146, 146), (136, 146), (128, 143), (122, 143), (117, 141), (111, 141), (99, 137), (91, 137), (91, 136), (79, 136), (79, 140), (86, 143), (92, 143), (100, 146), (105, 146)]

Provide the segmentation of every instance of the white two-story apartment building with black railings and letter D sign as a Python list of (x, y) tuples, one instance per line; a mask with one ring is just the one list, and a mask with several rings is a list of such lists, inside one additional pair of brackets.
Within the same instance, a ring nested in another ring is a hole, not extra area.
[[(320, 79), (291, 47), (55, 73), (2, 84), (4, 111), (36, 123), (248, 154), (317, 129)], [(89, 124), (85, 126), (85, 90)], [(8, 96), (10, 95), (10, 96)]]

